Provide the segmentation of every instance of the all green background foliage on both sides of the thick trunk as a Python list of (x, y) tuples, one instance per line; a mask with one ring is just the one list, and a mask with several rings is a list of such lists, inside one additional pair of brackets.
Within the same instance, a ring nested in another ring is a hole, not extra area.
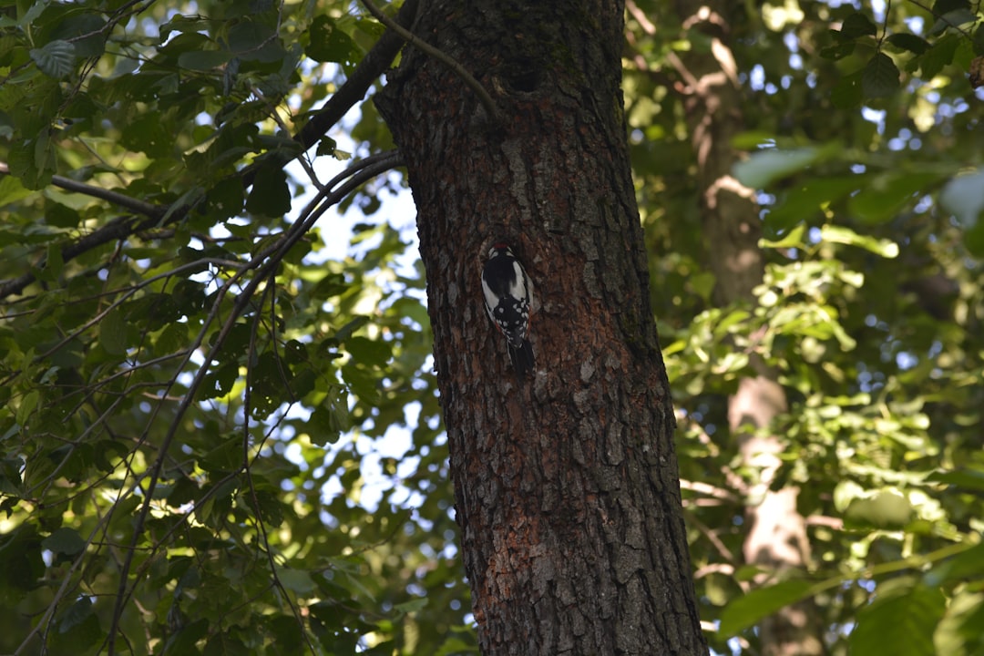
[[(625, 46), (708, 639), (766, 653), (757, 623), (812, 598), (830, 654), (984, 654), (984, 13), (733, 5), (754, 302), (715, 300), (678, 92), (714, 43), (636, 0)], [(392, 141), (363, 102), (317, 171), (281, 171), (378, 24), (333, 0), (2, 7), (0, 651), (474, 652), (404, 183), (305, 207)], [(786, 392), (801, 571), (741, 556), (757, 472), (726, 410), (753, 356)]]

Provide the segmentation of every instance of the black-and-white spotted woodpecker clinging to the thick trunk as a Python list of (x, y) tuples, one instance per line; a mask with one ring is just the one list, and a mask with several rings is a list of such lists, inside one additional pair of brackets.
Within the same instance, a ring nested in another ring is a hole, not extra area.
[(506, 336), (509, 359), (516, 375), (523, 379), (534, 371), (533, 347), (529, 343), (529, 306), (533, 286), (523, 265), (513, 255), (509, 244), (497, 242), (489, 249), (489, 259), (482, 270), (485, 312)]

